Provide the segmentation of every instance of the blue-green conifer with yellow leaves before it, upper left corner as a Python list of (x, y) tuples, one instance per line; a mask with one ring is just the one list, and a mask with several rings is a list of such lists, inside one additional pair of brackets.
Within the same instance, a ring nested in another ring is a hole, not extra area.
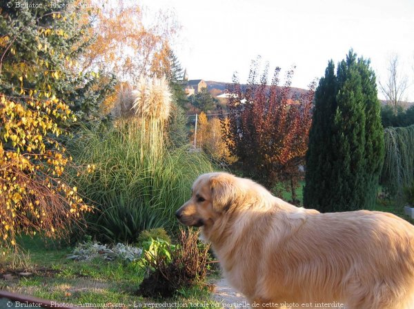
[(39, 8), (1, 8), (0, 91), (25, 97), (34, 91), (56, 94), (79, 120), (100, 118), (99, 107), (113, 91), (115, 78), (97, 70), (82, 73), (78, 59), (93, 42), (89, 15), (75, 1), (63, 1), (62, 10), (50, 1)]

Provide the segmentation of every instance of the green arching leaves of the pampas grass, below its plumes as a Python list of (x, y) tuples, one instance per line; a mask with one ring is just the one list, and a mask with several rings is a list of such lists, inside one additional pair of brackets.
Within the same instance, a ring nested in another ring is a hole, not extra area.
[(188, 199), (197, 175), (213, 171), (203, 153), (188, 153), (187, 147), (161, 150), (155, 166), (148, 156), (141, 160), (141, 149), (141, 132), (128, 125), (83, 129), (68, 145), (78, 165), (95, 164), (92, 173), (74, 177), (72, 186), (96, 206), (86, 217), (87, 233), (101, 241), (135, 242), (150, 228), (171, 231), (177, 226), (174, 213)]

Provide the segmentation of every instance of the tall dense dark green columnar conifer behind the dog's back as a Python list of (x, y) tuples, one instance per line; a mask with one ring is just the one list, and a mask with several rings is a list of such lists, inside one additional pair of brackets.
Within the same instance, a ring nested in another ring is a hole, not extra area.
[(375, 74), (350, 50), (337, 74), (329, 61), (315, 93), (304, 205), (346, 211), (375, 202), (384, 136)]

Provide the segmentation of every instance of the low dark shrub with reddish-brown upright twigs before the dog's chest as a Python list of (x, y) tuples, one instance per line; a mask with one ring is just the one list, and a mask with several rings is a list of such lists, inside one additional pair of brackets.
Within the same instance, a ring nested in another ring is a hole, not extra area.
[[(206, 278), (208, 265), (208, 245), (198, 240), (198, 231), (188, 228), (180, 230), (179, 243), (169, 255), (144, 255), (152, 268), (144, 278), (137, 293), (144, 297), (171, 297), (182, 288), (197, 286)], [(165, 249), (165, 247), (164, 247)]]

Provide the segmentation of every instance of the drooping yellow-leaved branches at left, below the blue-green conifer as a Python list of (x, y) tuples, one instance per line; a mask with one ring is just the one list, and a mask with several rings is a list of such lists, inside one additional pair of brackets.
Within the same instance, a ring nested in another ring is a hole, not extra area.
[(55, 96), (27, 104), (0, 97), (0, 243), (6, 246), (21, 232), (62, 235), (90, 211), (77, 188), (60, 179), (70, 157), (51, 137), (63, 133), (55, 119), (75, 120), (68, 105)]

